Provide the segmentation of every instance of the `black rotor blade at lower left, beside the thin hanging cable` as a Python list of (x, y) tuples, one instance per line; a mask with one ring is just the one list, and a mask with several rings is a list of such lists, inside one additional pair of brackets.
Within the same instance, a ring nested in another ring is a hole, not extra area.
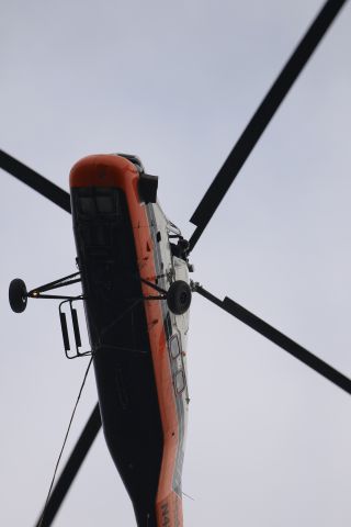
[[(99, 403), (88, 419), (35, 527), (49, 527), (101, 428)], [(42, 518), (43, 516), (43, 518)]]

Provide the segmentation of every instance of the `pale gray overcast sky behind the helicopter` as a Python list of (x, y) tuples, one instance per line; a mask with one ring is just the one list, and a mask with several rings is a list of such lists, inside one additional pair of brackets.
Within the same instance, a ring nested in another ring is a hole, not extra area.
[[(321, 5), (308, 0), (2, 2), (1, 147), (68, 188), (88, 154), (139, 155), (185, 235), (238, 135)], [(347, 7), (192, 255), (194, 278), (351, 375)], [(8, 284), (75, 270), (70, 217), (1, 175), (0, 524), (33, 525), (87, 366), (57, 307)], [(351, 522), (351, 399), (204, 299), (193, 300), (186, 527)], [(93, 375), (70, 451), (95, 402)], [(102, 436), (57, 527), (132, 527)]]

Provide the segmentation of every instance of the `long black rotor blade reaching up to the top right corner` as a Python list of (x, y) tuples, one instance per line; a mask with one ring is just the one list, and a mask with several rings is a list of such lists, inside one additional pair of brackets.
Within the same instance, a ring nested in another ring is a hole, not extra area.
[(284, 97), (347, 0), (328, 0), (282, 69), (191, 217), (192, 250)]

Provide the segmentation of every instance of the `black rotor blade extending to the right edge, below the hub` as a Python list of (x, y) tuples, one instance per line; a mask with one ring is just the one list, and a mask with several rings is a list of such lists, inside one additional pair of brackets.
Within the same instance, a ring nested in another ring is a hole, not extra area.
[(324, 360), (313, 355), (310, 351), (307, 351), (307, 349), (299, 346), (299, 344), (296, 344), (278, 329), (274, 329), (274, 327), (267, 324), (267, 322), (262, 321), (262, 318), (253, 315), (253, 313), (250, 313), (245, 307), (234, 302), (234, 300), (228, 299), (228, 296), (226, 296), (223, 301), (217, 299), (199, 284), (194, 284), (194, 291), (214, 304), (218, 305), (218, 307), (222, 307), (224, 311), (235, 316), (239, 321), (244, 322), (244, 324), (247, 324), (252, 329), (263, 335), (263, 337), (283, 348), (296, 359), (309, 366), (309, 368), (320, 373), (333, 384), (337, 384), (337, 386), (341, 388), (341, 390), (344, 390), (351, 394), (350, 379), (329, 366)]

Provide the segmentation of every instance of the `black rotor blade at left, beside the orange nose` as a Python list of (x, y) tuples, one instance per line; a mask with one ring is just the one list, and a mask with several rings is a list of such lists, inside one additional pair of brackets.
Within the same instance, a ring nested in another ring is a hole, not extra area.
[(0, 168), (70, 213), (70, 198), (68, 192), (3, 150), (0, 150)]

